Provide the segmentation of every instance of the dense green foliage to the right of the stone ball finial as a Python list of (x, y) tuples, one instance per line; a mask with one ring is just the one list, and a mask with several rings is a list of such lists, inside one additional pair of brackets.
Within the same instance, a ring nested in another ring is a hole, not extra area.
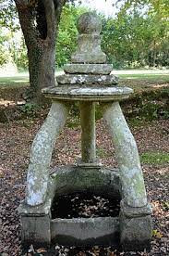
[(115, 68), (169, 65), (168, 39), (163, 20), (139, 11), (103, 22), (103, 50)]

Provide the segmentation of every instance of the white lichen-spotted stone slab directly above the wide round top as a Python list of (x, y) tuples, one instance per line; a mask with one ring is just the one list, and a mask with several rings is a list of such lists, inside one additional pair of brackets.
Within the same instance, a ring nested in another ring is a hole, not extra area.
[(97, 86), (102, 84), (103, 86), (113, 85), (118, 83), (118, 77), (115, 75), (59, 75), (56, 77), (59, 84), (80, 84), (80, 85), (93, 85)]

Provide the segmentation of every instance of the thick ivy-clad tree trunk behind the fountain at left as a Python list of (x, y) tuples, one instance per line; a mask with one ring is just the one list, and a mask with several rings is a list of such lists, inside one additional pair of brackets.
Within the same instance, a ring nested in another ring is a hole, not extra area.
[(43, 87), (54, 86), (55, 40), (66, 0), (15, 0), (28, 49), (28, 98), (41, 102)]

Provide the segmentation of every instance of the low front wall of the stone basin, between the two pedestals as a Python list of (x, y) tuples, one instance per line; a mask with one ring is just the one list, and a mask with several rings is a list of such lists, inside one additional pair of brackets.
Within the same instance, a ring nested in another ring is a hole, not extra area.
[(55, 219), (52, 238), (63, 245), (115, 245), (119, 239), (118, 218)]

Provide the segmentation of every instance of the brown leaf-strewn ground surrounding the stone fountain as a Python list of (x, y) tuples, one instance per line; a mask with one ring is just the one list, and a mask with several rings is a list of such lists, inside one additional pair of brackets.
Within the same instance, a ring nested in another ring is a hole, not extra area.
[[(142, 79), (141, 77), (141, 81)], [(135, 81), (135, 83), (137, 82)], [(151, 84), (160, 83), (156, 79), (155, 82), (151, 80)], [(168, 81), (163, 81), (163, 84), (168, 85)], [(129, 126), (138, 143), (148, 198), (153, 208), (151, 252), (124, 253), (100, 247), (70, 249), (58, 245), (54, 245), (50, 250), (42, 248), (35, 250), (32, 246), (28, 250), (21, 249), (17, 208), (20, 200), (24, 198), (30, 146), (34, 135), (42, 125), (44, 112), (46, 111), (42, 111), (36, 118), (0, 123), (0, 194), (2, 195), (0, 255), (169, 255), (169, 120), (163, 119), (151, 122), (129, 120)], [(71, 117), (56, 142), (52, 167), (73, 163), (79, 154), (80, 126), (78, 120)], [(102, 119), (97, 121), (97, 154), (104, 165), (116, 166), (115, 148)]]

